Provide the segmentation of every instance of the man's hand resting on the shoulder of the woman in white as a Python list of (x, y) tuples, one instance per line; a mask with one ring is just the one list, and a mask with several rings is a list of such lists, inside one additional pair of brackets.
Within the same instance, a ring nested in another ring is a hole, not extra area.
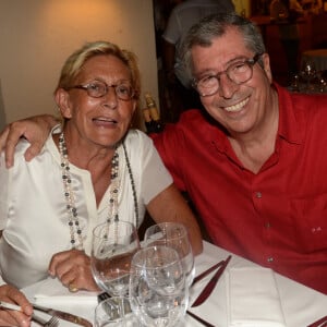
[(13, 166), (14, 150), (21, 137), (31, 146), (25, 152), (26, 161), (31, 161), (41, 150), (50, 130), (58, 124), (50, 114), (35, 116), (13, 122), (0, 133), (0, 152), (5, 152), (5, 166)]

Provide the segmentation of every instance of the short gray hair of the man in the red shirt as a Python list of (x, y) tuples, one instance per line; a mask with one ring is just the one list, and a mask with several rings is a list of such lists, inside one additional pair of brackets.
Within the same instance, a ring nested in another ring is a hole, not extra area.
[[(255, 23), (237, 13), (219, 13), (206, 16), (190, 28), (183, 43), (183, 63), (191, 78), (193, 74), (192, 48), (194, 46), (211, 46), (214, 38), (221, 37), (229, 27), (233, 26), (243, 35), (245, 47), (253, 53), (266, 52), (261, 31)], [(258, 63), (263, 66), (262, 59), (258, 60)]]

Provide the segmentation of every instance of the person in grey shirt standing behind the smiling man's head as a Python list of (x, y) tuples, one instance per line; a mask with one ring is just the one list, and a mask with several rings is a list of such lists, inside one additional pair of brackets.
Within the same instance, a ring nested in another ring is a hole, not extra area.
[[(182, 105), (180, 111), (202, 108), (181, 58), (181, 49), (187, 31), (206, 15), (232, 11), (234, 11), (234, 4), (231, 0), (184, 0), (172, 9), (162, 34), (162, 61), (170, 94), (173, 94), (174, 98), (178, 97)], [(178, 110), (175, 107), (173, 110)]]

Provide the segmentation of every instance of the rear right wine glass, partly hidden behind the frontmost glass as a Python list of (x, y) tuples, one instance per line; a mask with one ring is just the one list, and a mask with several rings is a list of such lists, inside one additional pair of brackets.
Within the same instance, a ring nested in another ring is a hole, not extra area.
[(174, 249), (180, 256), (185, 272), (186, 286), (192, 284), (195, 275), (194, 255), (184, 225), (179, 222), (153, 225), (145, 231), (144, 244), (145, 246), (166, 245)]

